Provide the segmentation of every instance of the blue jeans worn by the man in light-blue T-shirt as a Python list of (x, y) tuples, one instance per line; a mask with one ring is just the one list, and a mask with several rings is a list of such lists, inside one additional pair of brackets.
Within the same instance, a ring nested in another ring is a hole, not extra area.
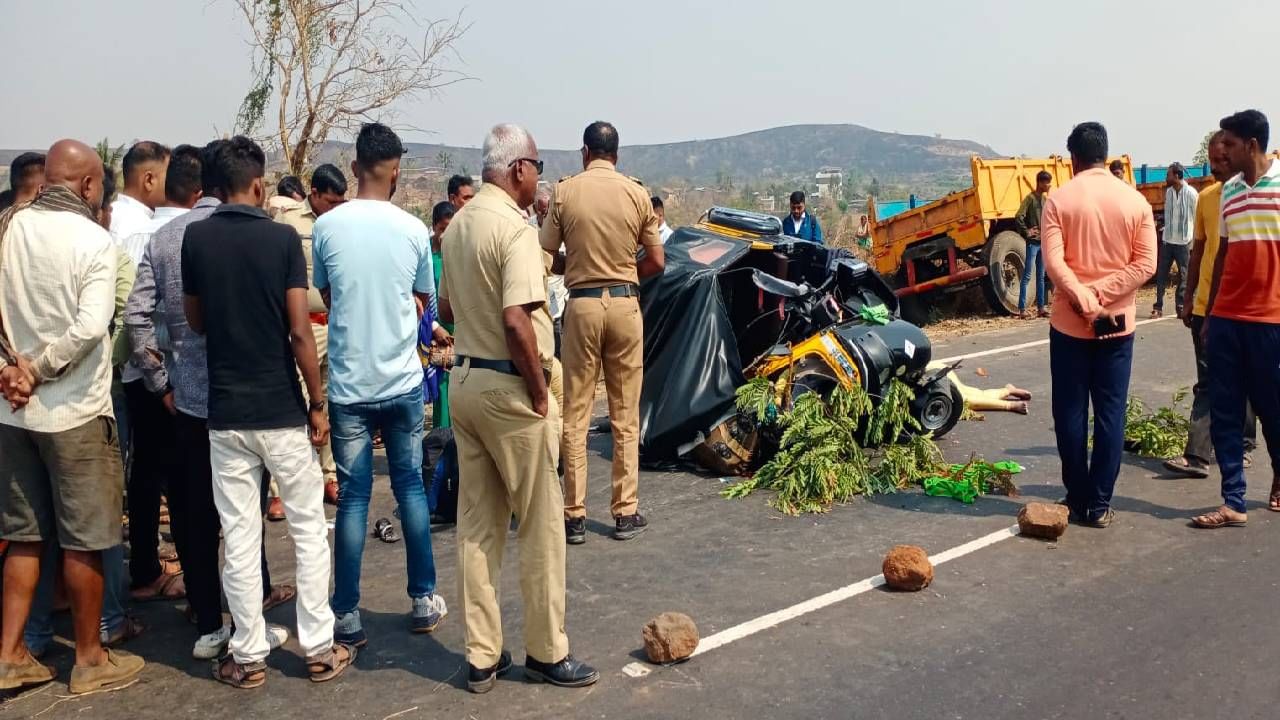
[(399, 505), (404, 534), (408, 596), (435, 592), (431, 555), (431, 512), (422, 489), (422, 391), (358, 405), (329, 406), (333, 457), (338, 465), (338, 519), (334, 527), (334, 591), (337, 614), (360, 606), (360, 564), (369, 536), (369, 497), (374, 487), (374, 432), (381, 430), (392, 493)]

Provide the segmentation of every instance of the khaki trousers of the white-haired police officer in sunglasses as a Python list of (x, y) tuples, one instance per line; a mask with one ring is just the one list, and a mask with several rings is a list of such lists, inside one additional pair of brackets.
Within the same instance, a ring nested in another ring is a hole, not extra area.
[(556, 459), (559, 407), (534, 413), (525, 382), (493, 370), (456, 368), (449, 411), (458, 445), (458, 575), (467, 662), (492, 667), (502, 653), (498, 582), (516, 515), (525, 651), (558, 662), (564, 634), (564, 523)]

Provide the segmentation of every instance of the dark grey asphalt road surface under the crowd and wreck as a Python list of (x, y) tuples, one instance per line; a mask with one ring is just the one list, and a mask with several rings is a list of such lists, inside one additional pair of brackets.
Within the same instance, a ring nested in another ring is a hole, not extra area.
[[(1043, 323), (951, 341), (936, 356), (1044, 338)], [(979, 378), (977, 368), (988, 378)], [(988, 414), (943, 439), (951, 460), (970, 452), (1012, 459), (1024, 497), (965, 506), (919, 491), (861, 500), (822, 516), (783, 518), (765, 497), (718, 497), (714, 478), (650, 473), (641, 501), (652, 529), (617, 543), (603, 521), (570, 548), (568, 632), (573, 652), (595, 664), (595, 688), (526, 684), (517, 667), (484, 697), (461, 689), (462, 626), (406, 632), (403, 544), (371, 541), (364, 612), (370, 646), (355, 671), (312, 685), (294, 642), (270, 659), (262, 689), (218, 685), (189, 659), (193, 630), (173, 606), (141, 609), (151, 625), (131, 647), (150, 665), (120, 692), (65, 696), (72, 655), (50, 661), (61, 682), (0, 707), (0, 717), (1276, 717), (1280, 603), (1275, 559), (1280, 515), (1249, 492), (1251, 525), (1196, 532), (1187, 518), (1216, 506), (1217, 480), (1162, 477), (1126, 457), (1119, 516), (1107, 530), (1073, 527), (1056, 544), (1012, 538), (938, 568), (922, 593), (873, 591), (746, 637), (690, 662), (622, 673), (640, 653), (653, 615), (690, 614), (703, 635), (876, 575), (883, 552), (916, 543), (955, 547), (1014, 523), (1023, 500), (1060, 496), (1048, 407), (1046, 346), (969, 360), (975, 386), (1012, 382), (1036, 393), (1028, 418)], [(1162, 404), (1193, 377), (1190, 340), (1175, 320), (1139, 328), (1133, 392)], [(607, 451), (605, 438), (593, 447)], [(1266, 466), (1262, 461), (1261, 468)], [(1265, 475), (1265, 470), (1258, 473)], [(608, 519), (605, 461), (594, 457), (589, 511)], [(390, 515), (385, 483), (374, 518)], [(291, 574), (283, 525), (271, 525), (274, 571)], [(452, 529), (434, 536), (440, 591), (456, 606)], [(507, 646), (522, 661), (518, 585), (511, 551), (504, 578)], [(291, 623), (292, 606), (270, 618)], [(65, 619), (63, 620), (65, 624)], [(67, 628), (63, 628), (65, 632)]]

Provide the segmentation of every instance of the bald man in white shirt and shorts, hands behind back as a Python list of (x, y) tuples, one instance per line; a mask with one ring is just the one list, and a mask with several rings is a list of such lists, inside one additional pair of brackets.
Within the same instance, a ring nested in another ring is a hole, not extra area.
[[(102, 161), (63, 140), (32, 205), (0, 215), (0, 538), (10, 542), (0, 691), (46, 683), (22, 632), (45, 542), (63, 547), (81, 694), (127, 683), (142, 660), (102, 647), (102, 551), (120, 542), (124, 471), (111, 415), (116, 249), (97, 224)], [(58, 382), (50, 382), (50, 380)]]

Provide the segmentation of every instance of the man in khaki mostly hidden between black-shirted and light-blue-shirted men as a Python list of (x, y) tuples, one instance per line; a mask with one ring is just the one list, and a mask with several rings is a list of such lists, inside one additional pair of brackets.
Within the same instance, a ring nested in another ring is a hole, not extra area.
[[(311, 195), (306, 200), (285, 205), (275, 215), (278, 223), (291, 225), (298, 231), (302, 238), (302, 256), (307, 261), (307, 282), (311, 282), (311, 234), (315, 229), (316, 218), (333, 210), (347, 201), (347, 178), (335, 165), (324, 164), (311, 173)], [(307, 290), (308, 310), (311, 311), (311, 332), (316, 336), (316, 356), (320, 360), (320, 384), (324, 392), (329, 392), (329, 309), (325, 307), (320, 291), (311, 287)], [(306, 383), (302, 386), (302, 395), (306, 395)], [(310, 398), (307, 398), (310, 402)], [(320, 470), (324, 471), (324, 498), (329, 505), (338, 503), (338, 465), (333, 460), (333, 446), (325, 441), (319, 448)], [(273, 509), (279, 503), (279, 496), (274, 492), (273, 480), (271, 501)], [(282, 509), (283, 510), (283, 509)], [(273, 518), (276, 519), (276, 518)], [(283, 515), (279, 518), (283, 519)]]

